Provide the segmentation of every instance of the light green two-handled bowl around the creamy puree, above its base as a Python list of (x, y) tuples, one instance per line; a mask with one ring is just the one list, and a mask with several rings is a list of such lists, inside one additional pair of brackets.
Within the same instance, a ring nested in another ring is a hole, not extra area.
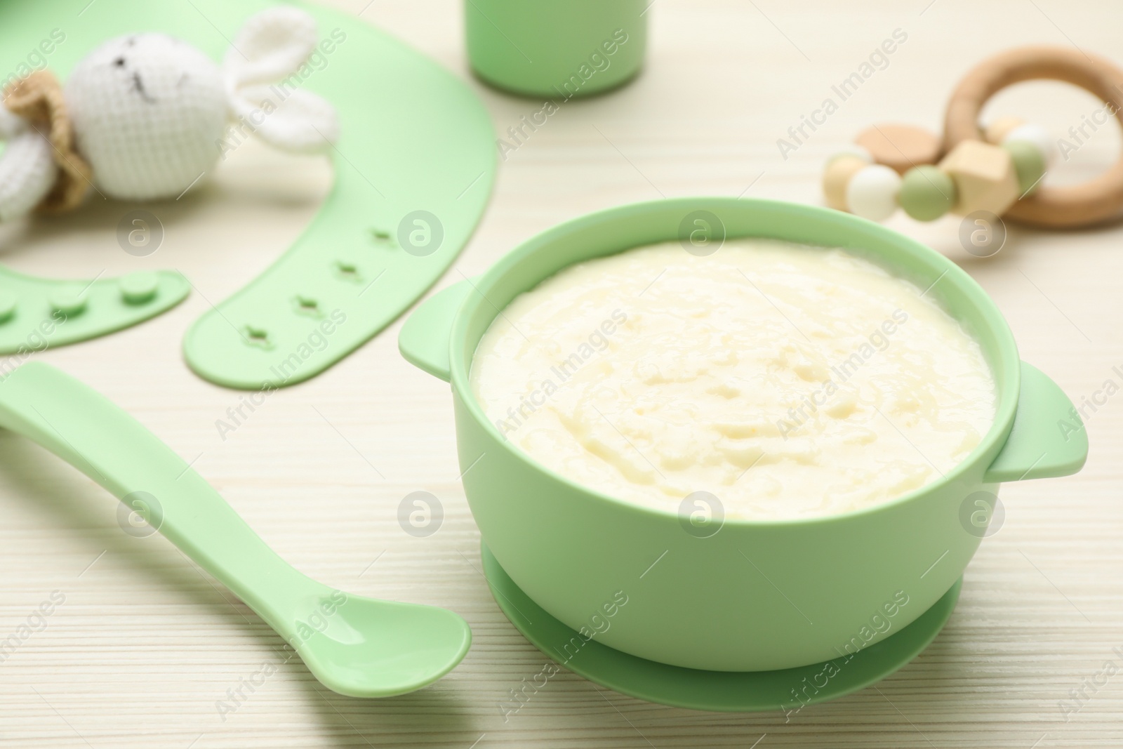
[[(700, 228), (711, 241), (772, 237), (844, 247), (931, 286), (979, 340), (994, 372), (990, 431), (942, 478), (891, 502), (828, 518), (727, 519), (709, 538), (687, 532), (677, 508), (600, 494), (505, 441), (468, 385), (476, 345), (499, 311), (573, 263), (692, 231), (697, 239)], [(1069, 399), (1019, 359), (1005, 320), (967, 273), (880, 225), (812, 205), (686, 198), (563, 223), (426, 301), (399, 345), (411, 363), (451, 383), (464, 490), (484, 541), (519, 587), (587, 637), (688, 668), (793, 668), (892, 636), (964, 573), (983, 536), (967, 520), (987, 496), (979, 492), (1076, 473), (1088, 450), (1084, 429), (1058, 426), (1072, 420)], [(627, 604), (613, 606), (621, 596)], [(556, 650), (579, 646), (558, 642)]]

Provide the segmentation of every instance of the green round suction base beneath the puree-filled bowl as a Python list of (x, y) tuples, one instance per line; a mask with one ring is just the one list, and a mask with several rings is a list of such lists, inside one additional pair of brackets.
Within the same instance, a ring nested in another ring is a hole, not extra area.
[(791, 712), (882, 681), (935, 639), (956, 608), (964, 582), (960, 577), (942, 599), (900, 632), (859, 650), (849, 659), (840, 657), (772, 672), (710, 672), (638, 658), (596, 640), (585, 642), (567, 659), (558, 648), (572, 639), (584, 641), (584, 638), (531, 601), (503, 570), (487, 546), (481, 544), (481, 547), (484, 575), (499, 608), (515, 629), (558, 665), (594, 684), (632, 697), (719, 712)]

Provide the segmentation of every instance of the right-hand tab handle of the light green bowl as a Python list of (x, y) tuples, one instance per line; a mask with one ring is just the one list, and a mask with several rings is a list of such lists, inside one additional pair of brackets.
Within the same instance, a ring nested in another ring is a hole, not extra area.
[(1041, 369), (1022, 362), (1017, 412), (1006, 445), (983, 481), (1068, 476), (1088, 457), (1088, 432), (1072, 401)]

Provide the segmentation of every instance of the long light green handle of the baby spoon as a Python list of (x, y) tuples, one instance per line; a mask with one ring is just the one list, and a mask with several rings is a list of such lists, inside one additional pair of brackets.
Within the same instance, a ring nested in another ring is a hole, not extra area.
[(317, 586), (155, 435), (64, 372), (31, 362), (0, 381), (0, 427), (101, 484), (274, 628), (292, 621), (298, 591)]

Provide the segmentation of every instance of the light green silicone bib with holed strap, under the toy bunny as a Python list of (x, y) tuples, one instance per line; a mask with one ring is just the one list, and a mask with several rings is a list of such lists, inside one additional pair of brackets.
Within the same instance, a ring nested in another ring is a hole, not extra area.
[[(91, 49), (131, 31), (163, 31), (220, 61), (243, 22), (272, 4), (9, 3), (0, 24), (0, 70), (18, 70), (52, 29), (62, 29), (65, 40), (45, 62), (63, 81)], [(491, 119), (467, 85), (354, 16), (293, 4), (316, 19), (321, 38), (337, 42), (300, 83), (339, 113), (336, 181), (296, 243), (186, 332), (191, 368), (230, 387), (312, 377), (394, 320), (464, 247), (495, 173)]]

